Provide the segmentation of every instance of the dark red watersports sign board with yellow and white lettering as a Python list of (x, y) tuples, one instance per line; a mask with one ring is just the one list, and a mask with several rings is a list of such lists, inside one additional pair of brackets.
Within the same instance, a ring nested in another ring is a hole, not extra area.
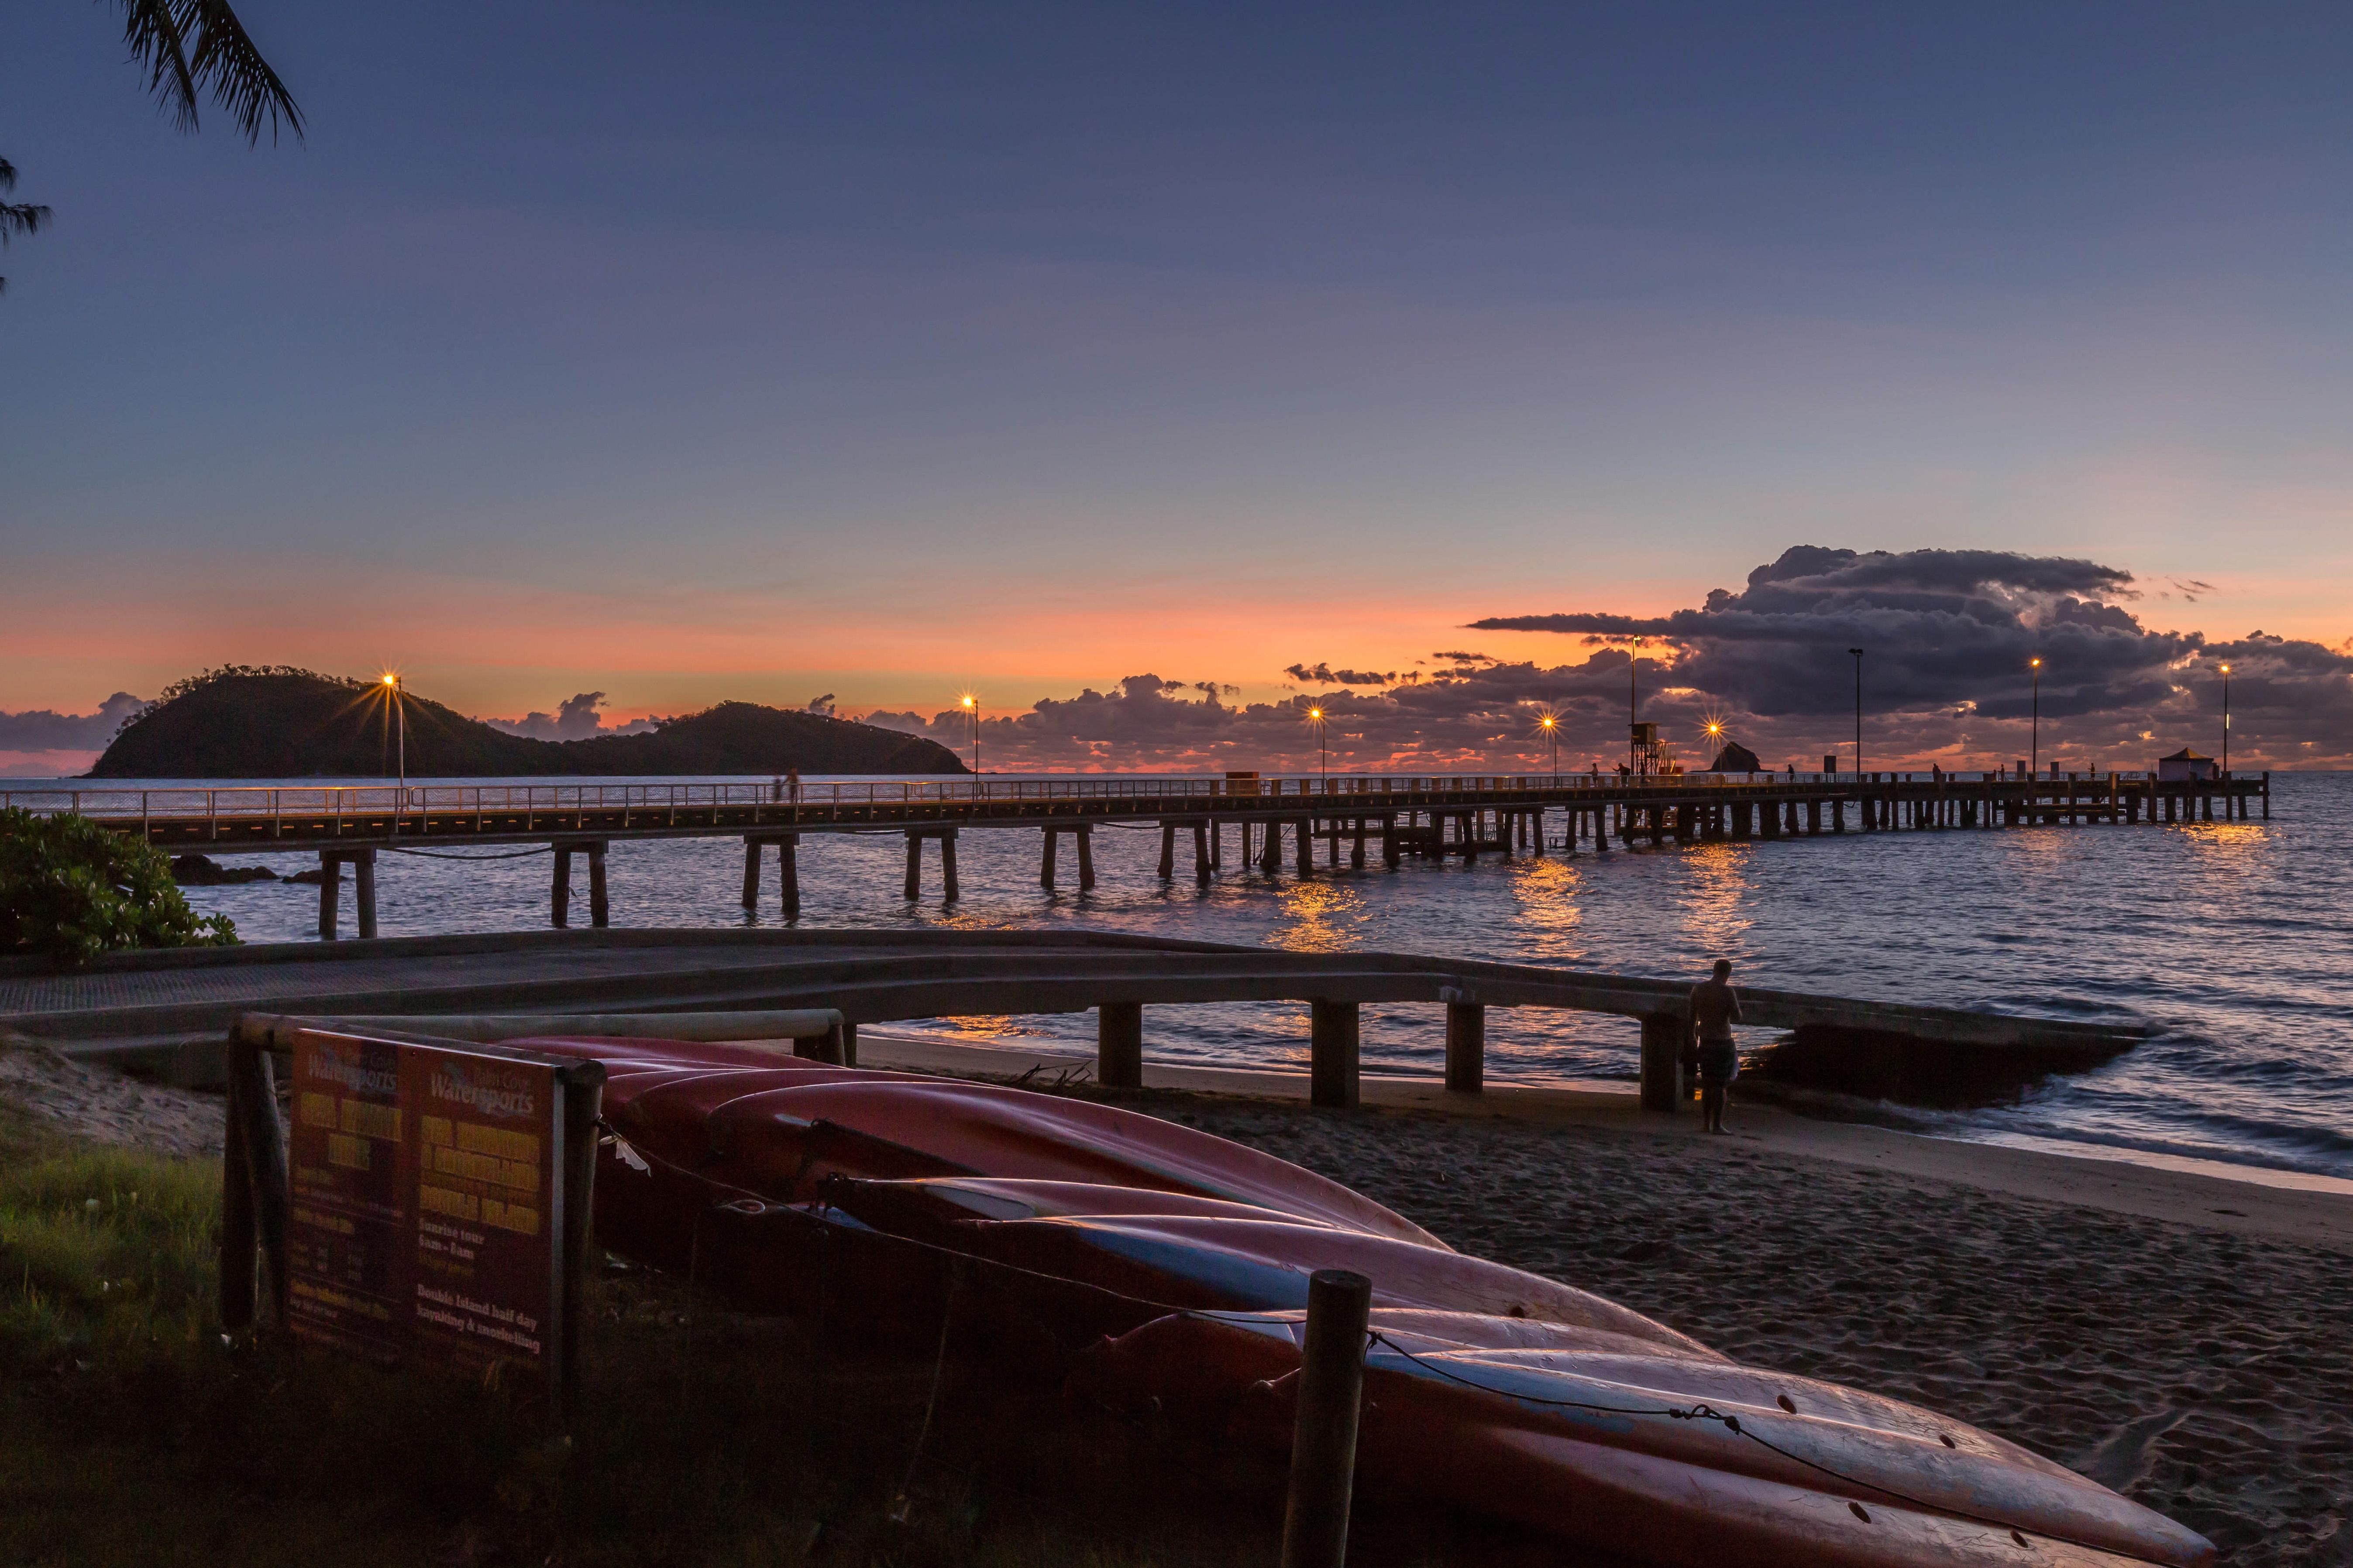
[(332, 1030), (292, 1046), (287, 1328), (386, 1363), (553, 1387), (562, 1067)]

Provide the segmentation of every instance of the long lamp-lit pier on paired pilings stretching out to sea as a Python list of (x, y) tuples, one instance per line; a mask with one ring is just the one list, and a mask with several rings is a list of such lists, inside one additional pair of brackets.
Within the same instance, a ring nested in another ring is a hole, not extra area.
[[(296, 851), (320, 858), (320, 938), (336, 938), (341, 870), (358, 882), (360, 936), (376, 931), (381, 853), (546, 846), (548, 919), (572, 922), (572, 863), (586, 858), (588, 922), (607, 924), (605, 851), (628, 839), (744, 839), (744, 907), (758, 907), (774, 851), (779, 910), (800, 914), (800, 842), (809, 835), (906, 837), (904, 896), (922, 896), (925, 844), (939, 846), (941, 893), (958, 898), (965, 830), (1040, 835), (1038, 882), (1094, 886), (1094, 830), (1160, 830), (1160, 877), (1207, 882), (1228, 865), (1306, 877), (1369, 856), (1478, 858), (1784, 839), (1845, 832), (2148, 825), (2271, 818), (2271, 773), (2169, 780), (2151, 773), (1682, 773), (1682, 776), (1348, 776), (1348, 778), (1007, 778), (809, 783), (562, 785), (249, 785), (219, 790), (12, 790), (0, 806), (78, 811), (165, 851)], [(525, 851), (532, 853), (532, 851)]]

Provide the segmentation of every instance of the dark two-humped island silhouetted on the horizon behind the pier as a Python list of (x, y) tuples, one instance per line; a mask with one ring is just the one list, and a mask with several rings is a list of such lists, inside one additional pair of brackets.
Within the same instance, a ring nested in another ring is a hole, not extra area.
[(631, 736), (534, 741), (384, 682), (228, 668), (179, 682), (115, 731), (89, 778), (965, 773), (955, 752), (821, 712), (718, 703)]

